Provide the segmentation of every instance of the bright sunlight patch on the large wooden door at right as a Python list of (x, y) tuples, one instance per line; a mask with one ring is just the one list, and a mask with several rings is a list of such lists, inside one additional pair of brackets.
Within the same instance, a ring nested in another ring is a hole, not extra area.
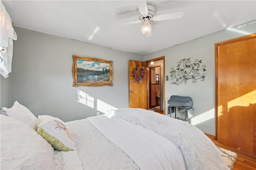
[(249, 106), (249, 104), (254, 103), (256, 103), (256, 90), (253, 90), (252, 92), (244, 94), (243, 96), (230, 100), (228, 102), (228, 110), (234, 106)]

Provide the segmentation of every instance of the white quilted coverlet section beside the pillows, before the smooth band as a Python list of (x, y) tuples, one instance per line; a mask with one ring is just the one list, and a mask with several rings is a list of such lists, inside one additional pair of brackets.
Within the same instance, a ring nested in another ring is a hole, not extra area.
[(98, 131), (88, 119), (66, 124), (70, 128), (76, 150), (55, 150), (56, 169), (139, 169), (126, 153)]

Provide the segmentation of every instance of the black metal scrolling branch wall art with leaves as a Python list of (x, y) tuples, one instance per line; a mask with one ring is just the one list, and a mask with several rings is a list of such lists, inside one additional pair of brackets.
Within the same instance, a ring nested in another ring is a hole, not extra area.
[(190, 64), (190, 58), (180, 60), (180, 62), (178, 62), (178, 68), (176, 70), (171, 68), (170, 80), (174, 80), (171, 82), (171, 84), (176, 84), (177, 86), (179, 84), (182, 84), (182, 82), (186, 84), (187, 80), (190, 79), (192, 79), (193, 83), (195, 83), (198, 79), (204, 81), (205, 75), (202, 72), (206, 71), (206, 69), (205, 65), (202, 65), (202, 67), (200, 68), (201, 63), (202, 60), (198, 59), (196, 59), (195, 63), (193, 64)]

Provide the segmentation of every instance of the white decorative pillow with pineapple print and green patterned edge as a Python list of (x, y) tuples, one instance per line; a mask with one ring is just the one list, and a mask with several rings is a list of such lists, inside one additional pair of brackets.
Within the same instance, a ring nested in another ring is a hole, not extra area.
[(38, 116), (37, 132), (57, 150), (74, 150), (70, 131), (62, 120), (49, 115)]

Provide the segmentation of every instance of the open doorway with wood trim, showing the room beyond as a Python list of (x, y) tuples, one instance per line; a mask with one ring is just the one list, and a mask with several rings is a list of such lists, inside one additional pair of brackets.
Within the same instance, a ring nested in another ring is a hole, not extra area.
[(145, 61), (147, 63), (147, 109), (165, 114), (164, 57)]

